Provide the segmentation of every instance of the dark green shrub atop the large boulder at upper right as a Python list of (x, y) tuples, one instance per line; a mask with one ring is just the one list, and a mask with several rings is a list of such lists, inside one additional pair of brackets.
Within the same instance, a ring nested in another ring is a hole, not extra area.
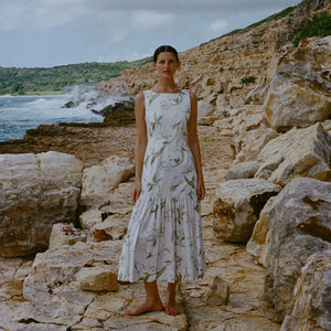
[(327, 36), (331, 34), (331, 15), (314, 18), (295, 38), (293, 45), (297, 47), (300, 41), (309, 36)]

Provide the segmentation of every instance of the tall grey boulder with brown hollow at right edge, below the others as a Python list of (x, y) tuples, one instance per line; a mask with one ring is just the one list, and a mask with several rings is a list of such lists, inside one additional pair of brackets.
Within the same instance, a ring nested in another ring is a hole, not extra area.
[(331, 183), (297, 178), (273, 200), (264, 297), (280, 321), (291, 310), (293, 288), (309, 256), (331, 246)]

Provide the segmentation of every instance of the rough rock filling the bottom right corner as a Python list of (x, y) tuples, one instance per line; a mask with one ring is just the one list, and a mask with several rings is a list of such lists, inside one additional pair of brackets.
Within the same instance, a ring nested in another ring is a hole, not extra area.
[(293, 307), (281, 324), (287, 330), (331, 330), (331, 250), (311, 255), (293, 290)]

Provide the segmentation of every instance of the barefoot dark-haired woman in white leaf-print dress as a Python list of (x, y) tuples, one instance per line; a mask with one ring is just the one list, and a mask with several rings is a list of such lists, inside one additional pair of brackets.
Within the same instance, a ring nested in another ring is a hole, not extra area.
[(143, 280), (146, 301), (127, 310), (129, 316), (163, 309), (157, 280), (168, 281), (166, 313), (178, 314), (177, 281), (203, 277), (205, 271), (196, 97), (174, 82), (180, 61), (173, 47), (157, 49), (152, 65), (159, 81), (135, 100), (135, 207), (118, 273), (119, 280)]

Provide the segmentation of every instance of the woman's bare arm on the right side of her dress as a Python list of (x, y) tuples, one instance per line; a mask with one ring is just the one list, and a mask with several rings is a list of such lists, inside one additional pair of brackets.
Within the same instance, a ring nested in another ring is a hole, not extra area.
[(197, 102), (196, 96), (190, 90), (191, 98), (191, 116), (188, 122), (188, 143), (192, 151), (193, 158), (195, 160), (196, 173), (197, 173), (197, 184), (196, 184), (196, 195), (197, 200), (202, 201), (205, 194), (203, 173), (201, 166), (201, 153), (200, 145), (196, 131), (196, 118), (197, 118)]

